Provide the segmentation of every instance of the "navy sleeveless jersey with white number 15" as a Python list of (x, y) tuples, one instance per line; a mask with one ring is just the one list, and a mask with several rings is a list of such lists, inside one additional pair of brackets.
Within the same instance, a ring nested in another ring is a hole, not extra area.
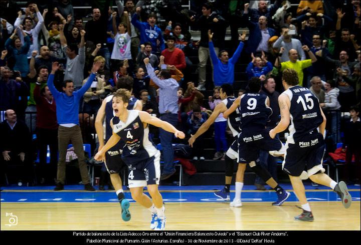
[(316, 130), (323, 122), (323, 117), (318, 99), (309, 89), (297, 85), (282, 94), (287, 95), (291, 102), (291, 123), (288, 127), (290, 135), (287, 141), (294, 144), (294, 141), (299, 141), (303, 135)]

